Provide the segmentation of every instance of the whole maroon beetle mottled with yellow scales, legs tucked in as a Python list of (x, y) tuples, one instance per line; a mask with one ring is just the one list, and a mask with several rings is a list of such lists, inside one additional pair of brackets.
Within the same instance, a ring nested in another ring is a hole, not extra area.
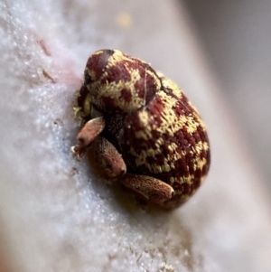
[(204, 123), (182, 90), (145, 61), (117, 50), (89, 57), (78, 108), (84, 126), (71, 147), (96, 151), (105, 177), (165, 208), (186, 202), (210, 167)]

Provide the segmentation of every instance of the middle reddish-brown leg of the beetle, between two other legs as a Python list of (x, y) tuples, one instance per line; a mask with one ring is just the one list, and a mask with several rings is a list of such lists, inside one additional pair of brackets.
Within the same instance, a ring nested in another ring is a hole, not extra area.
[(106, 138), (98, 136), (94, 142), (98, 164), (110, 179), (126, 174), (126, 163), (114, 145)]

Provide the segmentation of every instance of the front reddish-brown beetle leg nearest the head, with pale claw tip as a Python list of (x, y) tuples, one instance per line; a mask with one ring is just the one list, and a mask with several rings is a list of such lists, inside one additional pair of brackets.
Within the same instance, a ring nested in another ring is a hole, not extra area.
[(104, 117), (97, 117), (89, 120), (81, 128), (77, 136), (77, 145), (71, 147), (71, 152), (81, 159), (87, 152), (89, 145), (105, 128)]

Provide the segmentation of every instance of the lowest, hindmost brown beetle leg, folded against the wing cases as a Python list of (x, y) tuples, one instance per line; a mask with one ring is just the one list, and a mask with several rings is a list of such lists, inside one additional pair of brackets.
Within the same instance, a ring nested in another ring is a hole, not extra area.
[(172, 186), (148, 175), (126, 174), (121, 182), (149, 202), (162, 204), (173, 197)]

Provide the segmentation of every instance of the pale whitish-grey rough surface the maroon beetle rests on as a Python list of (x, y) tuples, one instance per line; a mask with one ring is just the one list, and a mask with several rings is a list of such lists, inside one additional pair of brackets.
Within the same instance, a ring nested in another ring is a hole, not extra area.
[[(0, 3), (3, 271), (270, 271), (265, 182), (196, 33), (175, 1)], [(210, 175), (181, 209), (141, 211), (70, 154), (98, 48), (150, 61), (206, 121)]]

